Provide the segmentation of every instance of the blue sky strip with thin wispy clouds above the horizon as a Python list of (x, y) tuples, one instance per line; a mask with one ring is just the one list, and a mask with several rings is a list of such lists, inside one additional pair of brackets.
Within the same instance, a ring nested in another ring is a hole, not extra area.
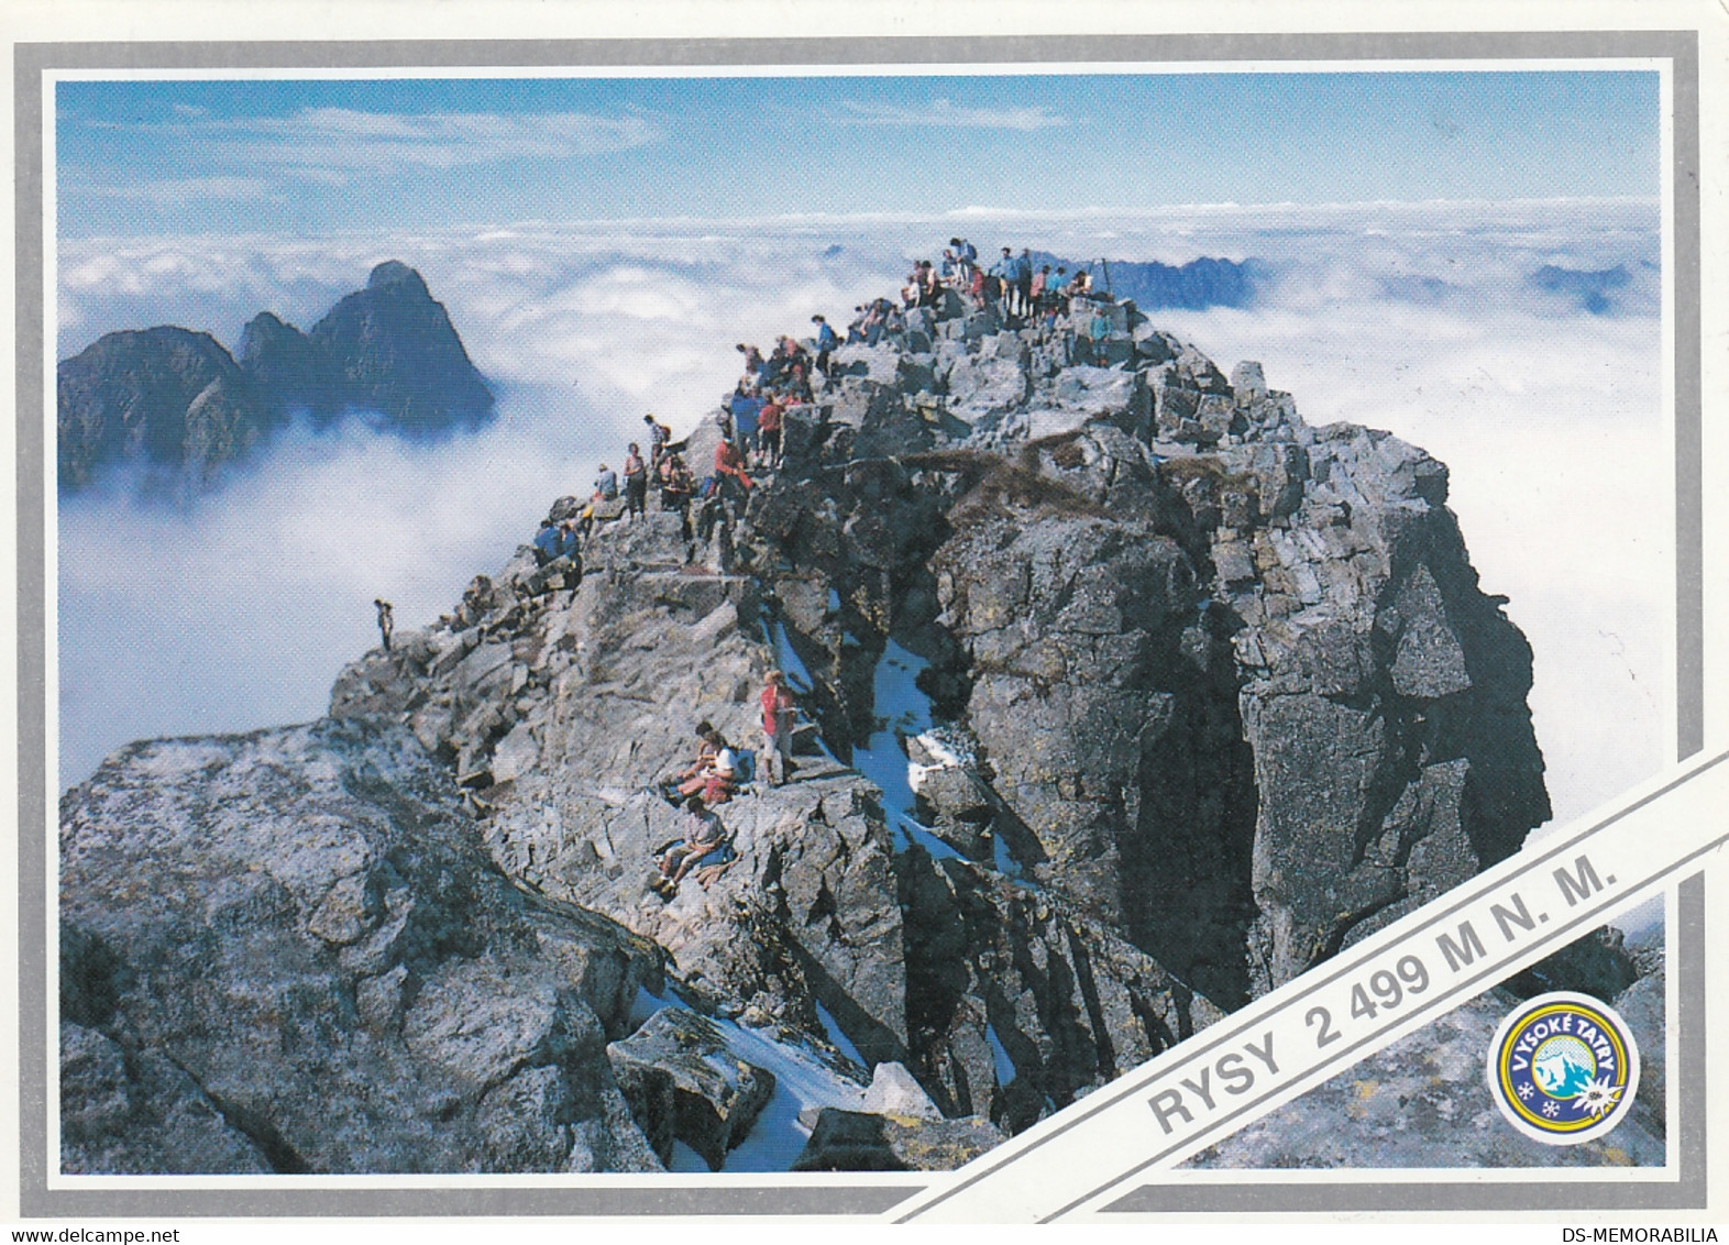
[(1655, 197), (1658, 76), (64, 81), (59, 232)]

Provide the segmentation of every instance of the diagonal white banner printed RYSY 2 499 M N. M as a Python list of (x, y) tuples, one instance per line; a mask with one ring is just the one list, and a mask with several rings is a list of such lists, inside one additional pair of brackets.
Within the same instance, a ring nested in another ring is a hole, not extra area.
[(892, 1210), (1041, 1223), (1207, 1145), (1556, 951), (1729, 840), (1729, 752), (1528, 844)]

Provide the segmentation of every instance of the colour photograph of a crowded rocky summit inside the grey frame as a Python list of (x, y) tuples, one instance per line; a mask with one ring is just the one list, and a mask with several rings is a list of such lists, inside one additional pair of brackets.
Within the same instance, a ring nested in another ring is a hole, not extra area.
[[(1655, 71), (50, 124), (67, 1174), (956, 1167), (1665, 763)], [(1504, 1012), (1209, 1162), (1665, 1162)]]

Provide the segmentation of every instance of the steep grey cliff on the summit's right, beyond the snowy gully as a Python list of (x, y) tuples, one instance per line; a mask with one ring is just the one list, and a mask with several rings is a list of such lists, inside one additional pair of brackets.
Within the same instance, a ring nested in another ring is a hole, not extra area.
[[(1065, 365), (1060, 335), (975, 337), (987, 316), (934, 323), (934, 353), (892, 368), (839, 353), (942, 391), (932, 418), (882, 387), (859, 427), (965, 436), (866, 470), (842, 391), (792, 467), (821, 491), (764, 496), (752, 524), (811, 569), (797, 593), (764, 579), (833, 686), (861, 681), (844, 635), (927, 657), (1011, 854), (1235, 1005), (1549, 816), (1530, 648), (1478, 590), (1445, 467), (1312, 429), (1257, 363), (1228, 382), (1132, 306), (1107, 315), (1110, 368)], [(859, 617), (797, 605), (828, 586)]]

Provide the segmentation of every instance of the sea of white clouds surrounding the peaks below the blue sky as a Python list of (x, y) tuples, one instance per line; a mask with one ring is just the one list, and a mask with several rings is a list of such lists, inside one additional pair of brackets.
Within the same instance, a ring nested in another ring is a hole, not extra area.
[[(1672, 747), (1656, 221), (1639, 202), (1215, 206), (62, 242), (61, 358), (152, 323), (233, 346), (261, 310), (304, 329), (372, 265), (403, 259), (450, 310), (500, 418), (441, 444), (294, 429), (183, 507), (126, 489), (62, 500), (61, 780), (131, 738), (315, 718), (377, 642), (373, 597), (403, 628), (436, 619), (555, 496), (617, 467), (645, 412), (685, 431), (712, 410), (735, 342), (806, 334), (816, 311), (844, 323), (958, 232), (980, 252), (1267, 263), (1255, 304), (1155, 320), (1221, 367), (1260, 360), (1311, 424), (1385, 427), (1451, 467), (1482, 586), (1509, 598), (1535, 652), (1532, 709), (1566, 820)], [(1610, 275), (1580, 289), (1553, 270)]]

